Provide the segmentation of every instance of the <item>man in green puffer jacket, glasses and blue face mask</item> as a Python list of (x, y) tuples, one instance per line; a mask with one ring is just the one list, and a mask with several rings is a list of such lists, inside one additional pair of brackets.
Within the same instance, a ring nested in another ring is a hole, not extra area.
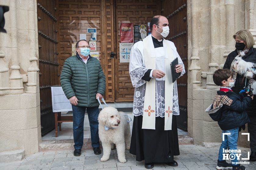
[(91, 144), (94, 154), (101, 154), (99, 148), (98, 114), (100, 99), (105, 93), (106, 80), (99, 60), (89, 55), (90, 47), (86, 40), (76, 42), (76, 56), (65, 60), (60, 75), (62, 89), (72, 104), (74, 155), (80, 156), (84, 141), (84, 114), (87, 114), (91, 127)]

